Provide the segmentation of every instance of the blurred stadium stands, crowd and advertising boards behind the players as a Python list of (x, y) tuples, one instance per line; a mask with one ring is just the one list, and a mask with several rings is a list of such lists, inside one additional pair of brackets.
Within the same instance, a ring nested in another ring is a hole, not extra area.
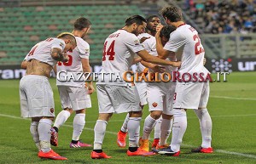
[(255, 0), (1, 0), (0, 79), (20, 78), (24, 74), (20, 62), (30, 48), (72, 31), (79, 16), (92, 22), (84, 39), (90, 43), (90, 61), (97, 71), (110, 33), (121, 28), (128, 16), (159, 14), (170, 2), (183, 8), (185, 21), (199, 31), (210, 71), (256, 71)]

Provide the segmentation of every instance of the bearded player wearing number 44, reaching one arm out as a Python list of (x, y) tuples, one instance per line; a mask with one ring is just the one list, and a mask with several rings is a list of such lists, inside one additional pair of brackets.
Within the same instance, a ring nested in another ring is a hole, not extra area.
[[(102, 73), (114, 73), (125, 75), (129, 71), (135, 54), (143, 60), (156, 65), (179, 66), (180, 62), (172, 62), (154, 57), (143, 48), (137, 35), (145, 30), (146, 22), (142, 16), (134, 15), (125, 20), (125, 27), (113, 32), (104, 43), (102, 56)], [(96, 83), (97, 98), (99, 104), (99, 116), (94, 127), (95, 140), (94, 148), (90, 156), (93, 159), (110, 158), (102, 151), (102, 142), (106, 132), (108, 120), (113, 113), (129, 112), (128, 121), (129, 149), (128, 156), (150, 156), (152, 152), (147, 152), (138, 148), (140, 121), (142, 109), (139, 105), (139, 95), (137, 88), (132, 82), (111, 81), (109, 76), (105, 76), (104, 82), (99, 76)], [(129, 75), (127, 75), (129, 78)]]

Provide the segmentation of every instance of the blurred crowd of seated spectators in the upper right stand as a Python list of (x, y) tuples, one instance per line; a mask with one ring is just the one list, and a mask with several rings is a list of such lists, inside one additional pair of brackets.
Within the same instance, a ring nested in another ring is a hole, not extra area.
[[(206, 33), (256, 31), (256, 0), (186, 0), (185, 8)], [(199, 20), (199, 21), (198, 21)]]

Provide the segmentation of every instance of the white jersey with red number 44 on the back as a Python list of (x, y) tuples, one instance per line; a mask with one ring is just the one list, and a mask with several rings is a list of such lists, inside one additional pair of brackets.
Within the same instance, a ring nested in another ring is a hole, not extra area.
[[(104, 42), (102, 56), (102, 73), (115, 73), (123, 76), (125, 71), (130, 71), (133, 59), (137, 52), (144, 50), (136, 35), (120, 29), (108, 36)], [(109, 76), (99, 76), (100, 83), (113, 85), (127, 85), (126, 82), (109, 82)]]

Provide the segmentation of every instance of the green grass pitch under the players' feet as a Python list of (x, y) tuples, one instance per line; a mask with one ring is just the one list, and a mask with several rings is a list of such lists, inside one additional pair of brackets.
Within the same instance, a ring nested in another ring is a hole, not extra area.
[[(216, 76), (213, 75), (213, 79)], [(0, 163), (256, 163), (256, 72), (233, 72), (228, 82), (212, 82), (208, 110), (212, 116), (213, 154), (192, 154), (191, 148), (201, 144), (199, 122), (193, 110), (188, 111), (188, 128), (183, 137), (179, 157), (173, 156), (126, 156), (126, 149), (116, 144), (116, 133), (125, 119), (125, 114), (113, 115), (108, 122), (103, 150), (107, 160), (90, 159), (91, 148), (70, 149), (73, 116), (60, 128), (59, 146), (52, 147), (68, 161), (41, 160), (29, 132), (30, 120), (20, 118), (19, 80), (0, 81)], [(55, 79), (50, 79), (55, 93), (55, 115), (61, 104)], [(86, 112), (86, 125), (81, 139), (93, 144), (93, 128), (97, 118), (96, 93), (91, 96), (92, 108)], [(144, 108), (143, 118), (148, 116)], [(141, 130), (143, 122), (141, 123)], [(171, 137), (170, 137), (171, 138)], [(168, 139), (170, 140), (170, 139)]]

